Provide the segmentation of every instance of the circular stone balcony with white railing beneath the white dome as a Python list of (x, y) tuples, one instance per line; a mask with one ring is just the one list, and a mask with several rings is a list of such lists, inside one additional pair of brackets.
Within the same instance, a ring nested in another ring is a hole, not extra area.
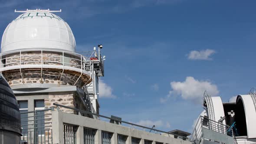
[(10, 85), (53, 83), (83, 87), (92, 81), (92, 60), (75, 52), (20, 50), (0, 54), (0, 72)]

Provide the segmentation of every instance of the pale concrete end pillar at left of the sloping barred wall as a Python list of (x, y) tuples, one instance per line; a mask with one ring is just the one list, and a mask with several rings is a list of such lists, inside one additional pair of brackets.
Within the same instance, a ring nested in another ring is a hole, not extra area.
[(53, 144), (64, 144), (63, 121), (61, 111), (52, 111)]

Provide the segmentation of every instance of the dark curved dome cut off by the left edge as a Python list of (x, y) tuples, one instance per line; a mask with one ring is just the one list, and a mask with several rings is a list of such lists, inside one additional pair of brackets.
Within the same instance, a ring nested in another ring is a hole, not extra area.
[(0, 75), (0, 131), (21, 134), (18, 103), (3, 75)]

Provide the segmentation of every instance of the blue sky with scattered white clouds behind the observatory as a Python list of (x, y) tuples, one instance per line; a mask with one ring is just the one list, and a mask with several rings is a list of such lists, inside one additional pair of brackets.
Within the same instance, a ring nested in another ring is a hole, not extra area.
[(0, 36), (14, 9), (62, 9), (77, 51), (101, 43), (100, 113), (191, 131), (203, 91), (228, 101), (255, 86), (255, 0), (0, 0)]

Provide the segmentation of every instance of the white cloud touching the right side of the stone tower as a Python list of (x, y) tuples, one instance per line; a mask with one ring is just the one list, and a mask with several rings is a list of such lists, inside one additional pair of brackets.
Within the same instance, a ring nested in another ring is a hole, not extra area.
[(101, 98), (116, 98), (116, 96), (112, 94), (112, 88), (100, 79), (98, 81), (98, 90)]

